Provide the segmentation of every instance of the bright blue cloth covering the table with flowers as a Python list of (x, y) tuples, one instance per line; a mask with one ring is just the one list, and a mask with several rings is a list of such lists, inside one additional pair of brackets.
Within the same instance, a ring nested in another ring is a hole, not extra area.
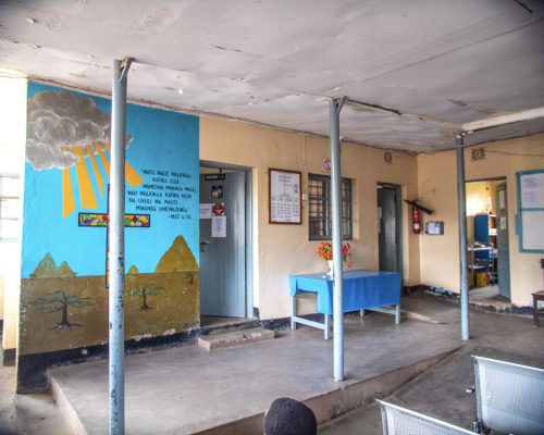
[[(400, 304), (400, 274), (397, 272), (345, 271), (344, 312)], [(318, 294), (317, 312), (333, 313), (333, 281), (321, 273), (289, 275), (289, 293)]]

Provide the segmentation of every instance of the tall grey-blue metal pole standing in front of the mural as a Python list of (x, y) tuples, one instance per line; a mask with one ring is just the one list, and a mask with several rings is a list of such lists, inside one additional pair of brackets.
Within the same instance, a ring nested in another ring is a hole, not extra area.
[(125, 433), (124, 214), (126, 76), (132, 59), (113, 61), (109, 223), (110, 435)]

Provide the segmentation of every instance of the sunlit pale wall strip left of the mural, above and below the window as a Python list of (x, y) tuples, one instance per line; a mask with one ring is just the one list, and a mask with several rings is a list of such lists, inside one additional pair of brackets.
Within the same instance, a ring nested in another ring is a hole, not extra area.
[[(12, 73), (4, 75), (12, 75)], [(26, 80), (0, 78), (0, 173), (20, 174), (24, 184), (26, 140)], [(22, 194), (21, 189), (21, 196)], [(21, 197), (22, 198), (22, 197)], [(22, 202), (21, 202), (22, 203)], [(15, 349), (18, 323), (21, 240), (0, 241), (0, 319), (3, 320), (2, 347)]]

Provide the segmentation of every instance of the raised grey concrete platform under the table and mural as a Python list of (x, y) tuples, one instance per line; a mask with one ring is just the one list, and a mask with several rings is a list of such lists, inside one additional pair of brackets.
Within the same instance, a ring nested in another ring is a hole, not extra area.
[[(213, 352), (193, 346), (129, 356), (126, 433), (260, 433), (277, 397), (306, 401), (322, 423), (393, 393), (460, 345), (447, 324), (348, 316), (342, 383), (332, 380), (333, 341), (309, 327)], [(54, 369), (51, 385), (73, 433), (108, 433), (107, 361)]]

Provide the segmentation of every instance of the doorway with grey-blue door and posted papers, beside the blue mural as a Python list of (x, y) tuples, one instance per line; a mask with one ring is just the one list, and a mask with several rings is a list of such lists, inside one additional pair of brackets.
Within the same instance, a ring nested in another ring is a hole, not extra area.
[(200, 164), (200, 325), (254, 316), (251, 171)]

